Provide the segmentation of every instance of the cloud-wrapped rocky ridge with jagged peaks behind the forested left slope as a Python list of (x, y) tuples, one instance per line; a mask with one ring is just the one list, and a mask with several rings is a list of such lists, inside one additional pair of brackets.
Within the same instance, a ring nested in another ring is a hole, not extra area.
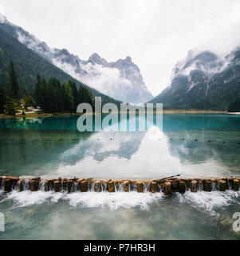
[(2, 15), (0, 27), (41, 58), (103, 94), (134, 104), (148, 102), (153, 98), (144, 84), (139, 67), (130, 57), (107, 62), (95, 53), (88, 60), (81, 60), (66, 49), (49, 48), (45, 42), (41, 42), (20, 26), (15, 26)]

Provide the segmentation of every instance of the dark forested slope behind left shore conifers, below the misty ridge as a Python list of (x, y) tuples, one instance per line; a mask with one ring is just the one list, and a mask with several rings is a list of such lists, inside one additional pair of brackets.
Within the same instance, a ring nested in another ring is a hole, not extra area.
[(57, 66), (46, 61), (45, 58), (41, 58), (33, 50), (18, 42), (16, 38), (13, 38), (6, 30), (3, 30), (2, 24), (0, 23), (0, 86), (6, 86), (7, 82), (9, 82), (10, 61), (14, 62), (20, 91), (26, 91), (33, 97), (37, 75), (39, 74), (45, 80), (58, 78), (61, 82), (75, 82), (77, 88), (85, 86), (91, 91), (93, 97), (100, 96), (103, 104), (107, 102), (114, 102), (117, 105), (120, 104), (120, 101), (116, 101), (100, 93), (98, 90), (86, 86), (84, 83), (77, 81), (63, 70), (57, 68)]

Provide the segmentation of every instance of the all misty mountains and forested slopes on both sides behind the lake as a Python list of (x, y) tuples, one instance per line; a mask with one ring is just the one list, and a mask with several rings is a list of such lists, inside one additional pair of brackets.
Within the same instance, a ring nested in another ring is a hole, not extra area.
[[(240, 47), (220, 56), (209, 50), (190, 50), (177, 62), (170, 86), (157, 97), (144, 84), (140, 69), (131, 57), (107, 62), (99, 54), (81, 60), (68, 50), (51, 49), (0, 15), (0, 83), (8, 79), (12, 60), (20, 84), (33, 94), (37, 74), (73, 80), (86, 86), (103, 102), (163, 103), (164, 109), (229, 110), (240, 102)], [(107, 95), (108, 96), (107, 96)], [(110, 96), (110, 97), (109, 97)], [(237, 103), (236, 103), (237, 102)]]

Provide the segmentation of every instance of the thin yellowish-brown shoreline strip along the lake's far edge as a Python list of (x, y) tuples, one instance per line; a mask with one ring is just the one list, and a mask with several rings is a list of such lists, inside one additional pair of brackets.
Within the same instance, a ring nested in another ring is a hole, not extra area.
[[(240, 114), (240, 112), (229, 113), (227, 111), (213, 111), (213, 110), (163, 110), (163, 114)], [(44, 114), (26, 114), (26, 115), (18, 114), (15, 116), (0, 114), (0, 118), (37, 118), (37, 117), (70, 116), (70, 115), (81, 115), (81, 114), (80, 113), (53, 113), (53, 114), (44, 113)]]

